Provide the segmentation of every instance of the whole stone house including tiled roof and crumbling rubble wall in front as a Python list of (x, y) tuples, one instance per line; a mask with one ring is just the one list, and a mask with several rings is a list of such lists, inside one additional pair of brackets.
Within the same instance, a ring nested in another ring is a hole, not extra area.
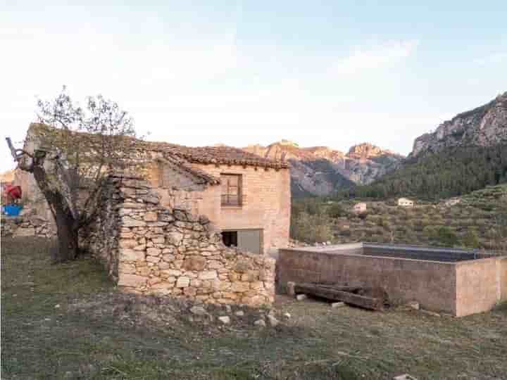
[[(136, 141), (131, 158), (142, 170), (108, 177), (100, 213), (81, 236), (120, 289), (272, 303), (268, 253), (289, 243), (288, 164), (229, 146), (151, 141)], [(18, 180), (40, 199), (32, 175)], [(34, 208), (43, 214), (44, 205)]]

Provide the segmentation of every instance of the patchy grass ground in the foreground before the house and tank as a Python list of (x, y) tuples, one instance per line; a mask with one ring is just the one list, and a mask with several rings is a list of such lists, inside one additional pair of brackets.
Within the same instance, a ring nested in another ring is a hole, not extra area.
[(1, 379), (507, 379), (506, 305), (454, 319), (277, 296), (292, 316), (259, 329), (266, 310), (221, 326), (118, 293), (93, 260), (51, 265), (44, 239), (4, 239), (1, 275)]

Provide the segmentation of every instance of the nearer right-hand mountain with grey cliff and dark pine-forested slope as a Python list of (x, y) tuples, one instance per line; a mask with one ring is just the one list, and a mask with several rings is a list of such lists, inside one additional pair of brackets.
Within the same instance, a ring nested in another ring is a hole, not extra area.
[(339, 197), (436, 200), (507, 182), (507, 93), (415, 139), (400, 167)]

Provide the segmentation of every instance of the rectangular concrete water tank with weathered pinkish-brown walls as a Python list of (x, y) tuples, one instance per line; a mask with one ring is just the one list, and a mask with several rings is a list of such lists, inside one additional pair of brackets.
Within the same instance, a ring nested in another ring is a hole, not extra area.
[[(451, 262), (374, 256), (363, 245), (281, 249), (280, 285), (295, 282), (347, 282), (380, 286), (392, 303), (416, 300), (421, 308), (458, 317), (491, 310), (507, 300), (507, 257)], [(446, 253), (447, 255), (447, 253)], [(461, 256), (461, 253), (460, 253)]]

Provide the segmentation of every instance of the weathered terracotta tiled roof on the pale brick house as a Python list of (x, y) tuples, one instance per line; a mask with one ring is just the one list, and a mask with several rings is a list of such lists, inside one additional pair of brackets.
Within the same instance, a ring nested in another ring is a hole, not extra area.
[(155, 141), (142, 141), (142, 147), (151, 151), (160, 151), (165, 157), (183, 158), (190, 163), (215, 163), (226, 165), (250, 165), (282, 169), (289, 167), (287, 161), (263, 158), (232, 146), (189, 147)]

